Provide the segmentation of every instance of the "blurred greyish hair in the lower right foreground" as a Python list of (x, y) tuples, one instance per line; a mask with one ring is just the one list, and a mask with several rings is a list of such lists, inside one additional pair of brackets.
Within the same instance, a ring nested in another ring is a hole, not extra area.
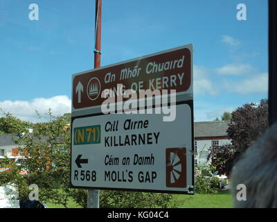
[[(237, 200), (244, 184), (247, 200)], [(277, 122), (239, 157), (231, 172), (234, 207), (277, 207)]]

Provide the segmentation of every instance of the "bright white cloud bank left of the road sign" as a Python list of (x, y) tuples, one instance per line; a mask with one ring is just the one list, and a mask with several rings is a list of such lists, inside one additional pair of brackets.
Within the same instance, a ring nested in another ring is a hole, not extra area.
[(47, 118), (44, 113), (51, 108), (55, 115), (62, 115), (65, 112), (71, 112), (71, 99), (68, 96), (53, 96), (51, 98), (35, 98), (33, 101), (0, 101), (0, 108), (10, 112), (15, 117), (24, 121), (37, 122), (35, 110), (42, 115), (42, 120)]

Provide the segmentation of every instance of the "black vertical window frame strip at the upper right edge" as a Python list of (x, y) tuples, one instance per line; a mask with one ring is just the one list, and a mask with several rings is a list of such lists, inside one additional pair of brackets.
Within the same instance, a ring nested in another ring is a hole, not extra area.
[(277, 1), (269, 0), (269, 126), (277, 121)]

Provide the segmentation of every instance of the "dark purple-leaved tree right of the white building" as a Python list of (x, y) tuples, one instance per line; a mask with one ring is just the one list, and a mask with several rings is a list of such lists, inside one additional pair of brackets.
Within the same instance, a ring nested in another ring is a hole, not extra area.
[(217, 171), (229, 174), (238, 156), (265, 133), (268, 126), (267, 109), (267, 99), (262, 99), (259, 104), (247, 103), (232, 112), (227, 129), (231, 144), (209, 149), (208, 158), (211, 158)]

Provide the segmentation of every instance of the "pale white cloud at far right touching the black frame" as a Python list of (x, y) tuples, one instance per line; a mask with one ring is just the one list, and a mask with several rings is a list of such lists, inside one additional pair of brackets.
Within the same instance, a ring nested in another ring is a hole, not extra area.
[(224, 86), (229, 92), (238, 92), (239, 94), (265, 93), (268, 91), (268, 74), (257, 74), (238, 82), (228, 81)]

